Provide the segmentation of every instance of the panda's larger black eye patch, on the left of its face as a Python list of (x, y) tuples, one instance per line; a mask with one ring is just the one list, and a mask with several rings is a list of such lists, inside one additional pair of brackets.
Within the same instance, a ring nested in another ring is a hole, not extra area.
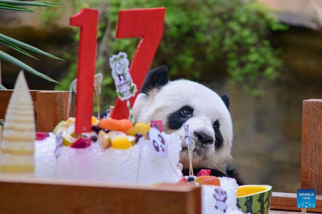
[(194, 109), (191, 106), (183, 106), (168, 116), (168, 127), (173, 130), (181, 128), (187, 120), (193, 116)]

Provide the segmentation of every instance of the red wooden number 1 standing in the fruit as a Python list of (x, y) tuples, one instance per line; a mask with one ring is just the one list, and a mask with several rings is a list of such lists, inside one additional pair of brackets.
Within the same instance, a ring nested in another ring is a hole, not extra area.
[(81, 27), (77, 62), (75, 132), (90, 132), (93, 114), (98, 10), (82, 8), (80, 12), (70, 17), (69, 24)]

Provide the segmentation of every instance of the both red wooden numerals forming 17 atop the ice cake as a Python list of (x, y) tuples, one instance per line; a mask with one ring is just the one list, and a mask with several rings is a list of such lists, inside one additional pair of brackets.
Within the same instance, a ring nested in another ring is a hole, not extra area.
[[(129, 72), (140, 91), (145, 75), (150, 67), (156, 48), (162, 37), (166, 8), (120, 10), (118, 14), (117, 38), (141, 37), (134, 54)], [(77, 65), (77, 96), (75, 132), (90, 132), (93, 113), (93, 78), (98, 10), (83, 8), (70, 18), (70, 25), (81, 27)], [(130, 98), (131, 107), (135, 97)], [(128, 118), (128, 108), (119, 98), (111, 117)]]

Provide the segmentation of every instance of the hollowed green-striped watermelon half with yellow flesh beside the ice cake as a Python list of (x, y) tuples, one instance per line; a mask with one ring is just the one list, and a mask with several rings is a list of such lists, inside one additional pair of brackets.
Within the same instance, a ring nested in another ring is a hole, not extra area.
[(237, 189), (237, 206), (244, 213), (267, 214), (271, 197), (270, 185), (242, 185)]

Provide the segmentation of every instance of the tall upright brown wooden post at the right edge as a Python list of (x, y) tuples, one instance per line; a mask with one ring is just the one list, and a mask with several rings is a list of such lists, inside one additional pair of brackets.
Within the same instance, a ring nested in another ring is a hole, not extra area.
[(301, 189), (322, 195), (322, 99), (303, 101)]

